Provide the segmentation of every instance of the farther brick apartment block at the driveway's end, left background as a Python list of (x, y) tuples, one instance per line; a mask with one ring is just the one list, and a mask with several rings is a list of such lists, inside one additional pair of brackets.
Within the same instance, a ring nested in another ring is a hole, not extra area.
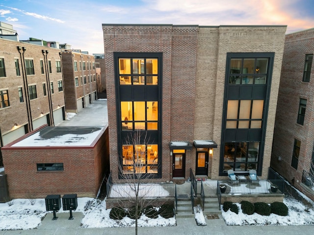
[(72, 50), (61, 55), (66, 111), (77, 113), (97, 99), (95, 58)]

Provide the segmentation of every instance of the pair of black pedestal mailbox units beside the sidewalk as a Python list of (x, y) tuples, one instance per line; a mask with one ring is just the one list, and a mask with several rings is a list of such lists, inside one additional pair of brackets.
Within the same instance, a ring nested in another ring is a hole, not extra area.
[[(61, 196), (60, 195), (48, 195), (45, 198), (46, 210), (53, 211), (52, 220), (56, 220), (56, 211), (59, 211), (61, 208)], [(63, 211), (70, 210), (69, 219), (73, 219), (72, 210), (76, 210), (78, 207), (78, 195), (77, 194), (65, 194), (62, 197)]]

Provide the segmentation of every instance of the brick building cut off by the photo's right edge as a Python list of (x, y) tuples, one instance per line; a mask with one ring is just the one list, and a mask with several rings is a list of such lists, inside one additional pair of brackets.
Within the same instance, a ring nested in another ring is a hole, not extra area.
[(271, 159), (271, 167), (312, 199), (313, 54), (314, 28), (286, 35)]

